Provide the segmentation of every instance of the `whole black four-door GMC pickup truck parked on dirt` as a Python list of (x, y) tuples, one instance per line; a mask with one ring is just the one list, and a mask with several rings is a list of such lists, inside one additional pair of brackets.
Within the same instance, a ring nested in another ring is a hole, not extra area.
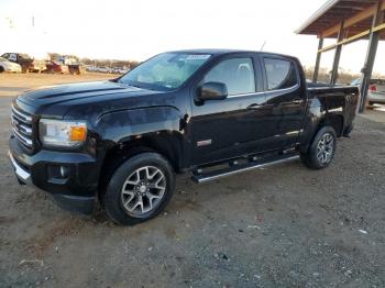
[(168, 52), (118, 79), (20, 95), (9, 156), (20, 184), (63, 208), (90, 213), (99, 200), (135, 224), (165, 208), (176, 174), (205, 182), (299, 157), (327, 167), (358, 98), (356, 87), (311, 87), (290, 56)]

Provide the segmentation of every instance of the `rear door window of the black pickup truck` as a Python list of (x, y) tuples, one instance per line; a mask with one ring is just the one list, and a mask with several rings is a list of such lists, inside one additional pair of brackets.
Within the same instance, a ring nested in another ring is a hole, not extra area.
[(296, 66), (293, 62), (264, 58), (267, 90), (285, 89), (298, 84)]

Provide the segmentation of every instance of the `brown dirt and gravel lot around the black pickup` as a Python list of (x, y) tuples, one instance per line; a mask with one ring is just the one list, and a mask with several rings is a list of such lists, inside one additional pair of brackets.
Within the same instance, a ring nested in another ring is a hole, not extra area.
[(385, 123), (358, 118), (332, 165), (300, 162), (196, 185), (166, 212), (112, 224), (18, 185), (8, 162), (21, 90), (110, 76), (0, 75), (0, 287), (385, 287)]

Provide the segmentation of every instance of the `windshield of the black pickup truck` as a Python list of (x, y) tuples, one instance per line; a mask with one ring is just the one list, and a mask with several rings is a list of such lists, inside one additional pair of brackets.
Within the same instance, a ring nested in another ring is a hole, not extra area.
[(175, 90), (209, 57), (208, 54), (160, 54), (125, 74), (119, 82), (153, 90)]

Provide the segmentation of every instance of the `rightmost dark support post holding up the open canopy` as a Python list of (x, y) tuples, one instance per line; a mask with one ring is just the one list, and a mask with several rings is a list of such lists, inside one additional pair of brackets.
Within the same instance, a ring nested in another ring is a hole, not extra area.
[(380, 40), (380, 31), (373, 31), (373, 27), (381, 24), (384, 20), (384, 12), (381, 11), (381, 4), (382, 4), (382, 1), (378, 1), (376, 13), (373, 15), (373, 19), (372, 19), (372, 27), (371, 27), (371, 34), (369, 36), (369, 45), (367, 45), (367, 52), (365, 57), (365, 64), (361, 70), (362, 81), (360, 86), (361, 97), (360, 97), (359, 113), (364, 113), (366, 109), (367, 90), (371, 84), (373, 65), (374, 65), (374, 59), (377, 52), (378, 40)]

